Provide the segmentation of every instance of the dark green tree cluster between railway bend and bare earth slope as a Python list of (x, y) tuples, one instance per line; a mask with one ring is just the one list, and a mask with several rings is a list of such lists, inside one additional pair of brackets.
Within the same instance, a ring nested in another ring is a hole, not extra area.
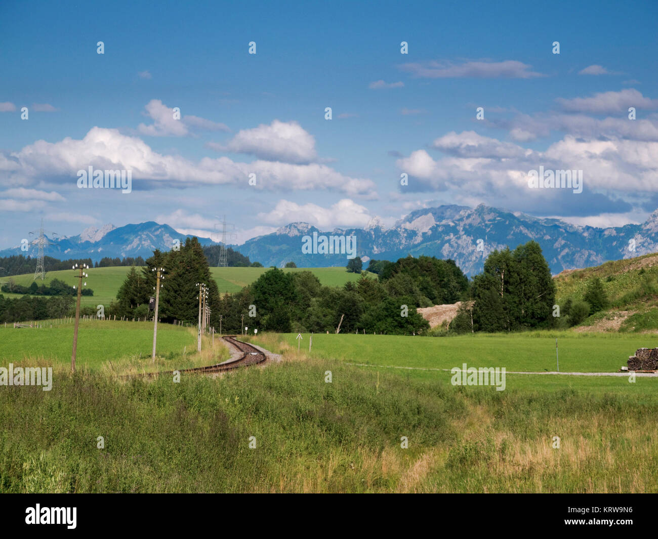
[(244, 324), (276, 332), (376, 332), (418, 334), (429, 328), (417, 307), (457, 301), (468, 279), (454, 261), (407, 257), (390, 263), (386, 276), (362, 275), (342, 287), (322, 286), (311, 271), (272, 268), (240, 292), (220, 299), (222, 327)]

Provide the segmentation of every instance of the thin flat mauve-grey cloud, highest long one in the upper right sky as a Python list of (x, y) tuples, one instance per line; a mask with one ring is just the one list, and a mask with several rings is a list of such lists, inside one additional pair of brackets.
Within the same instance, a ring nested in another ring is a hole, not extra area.
[(402, 71), (420, 78), (534, 78), (544, 76), (541, 73), (530, 71), (530, 65), (515, 60), (468, 61), (463, 64), (432, 60), (401, 64), (398, 67)]

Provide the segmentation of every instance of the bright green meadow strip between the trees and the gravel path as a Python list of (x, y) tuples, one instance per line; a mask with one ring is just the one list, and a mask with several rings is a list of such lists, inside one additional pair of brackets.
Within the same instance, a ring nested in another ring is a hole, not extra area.
[[(296, 334), (280, 340), (297, 350)], [(263, 340), (265, 346), (265, 337)], [(468, 363), (474, 367), (505, 367), (507, 371), (557, 370), (555, 339), (559, 346), (560, 371), (616, 372), (640, 347), (655, 346), (655, 337), (574, 332), (519, 334), (467, 334), (446, 338), (398, 335), (313, 335), (312, 357), (336, 358), (371, 365), (397, 365), (452, 369)], [(281, 347), (277, 342), (268, 346)], [(301, 350), (308, 354), (309, 334), (303, 334)]]

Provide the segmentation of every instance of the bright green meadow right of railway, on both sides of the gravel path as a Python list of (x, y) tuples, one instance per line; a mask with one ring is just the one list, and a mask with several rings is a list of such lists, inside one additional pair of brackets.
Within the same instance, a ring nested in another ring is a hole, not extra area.
[[(249, 338), (277, 353), (297, 356), (295, 334), (264, 334)], [(307, 358), (339, 359), (371, 376), (395, 375), (428, 382), (450, 384), (451, 372), (443, 369), (505, 367), (506, 371), (556, 371), (555, 338), (559, 344), (561, 372), (616, 372), (639, 347), (653, 346), (650, 340), (620, 334), (574, 334), (534, 332), (511, 335), (466, 335), (430, 338), (386, 335), (315, 334), (309, 355), (309, 335), (303, 335), (299, 355)], [(412, 351), (410, 354), (409, 351)], [(630, 351), (628, 351), (630, 350)], [(411, 357), (409, 357), (411, 355)], [(576, 390), (591, 395), (619, 395), (658, 406), (658, 378), (626, 376), (565, 376), (559, 374), (506, 374), (507, 390), (560, 392)], [(474, 388), (455, 388), (472, 392)], [(493, 388), (491, 391), (495, 392)]]

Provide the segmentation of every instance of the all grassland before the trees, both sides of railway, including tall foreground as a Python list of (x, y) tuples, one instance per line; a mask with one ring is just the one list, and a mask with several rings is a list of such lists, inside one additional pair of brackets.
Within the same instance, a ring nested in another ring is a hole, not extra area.
[[(160, 327), (161, 357), (151, 363), (151, 324), (83, 322), (75, 375), (68, 371), (70, 324), (0, 328), (0, 366), (54, 365), (49, 392), (0, 387), (0, 492), (658, 488), (658, 380), (508, 374), (505, 391), (497, 392), (452, 386), (449, 372), (419, 369), (467, 363), (542, 372), (553, 369), (555, 334), (316, 334), (312, 357), (297, 353), (295, 335), (266, 334), (257, 342), (283, 361), (265, 368), (217, 378), (184, 374), (179, 383), (116, 376), (228, 357), (208, 338), (201, 355), (183, 357), (195, 329)], [(616, 370), (619, 355), (647, 345), (621, 334), (557, 338), (563, 371)]]

